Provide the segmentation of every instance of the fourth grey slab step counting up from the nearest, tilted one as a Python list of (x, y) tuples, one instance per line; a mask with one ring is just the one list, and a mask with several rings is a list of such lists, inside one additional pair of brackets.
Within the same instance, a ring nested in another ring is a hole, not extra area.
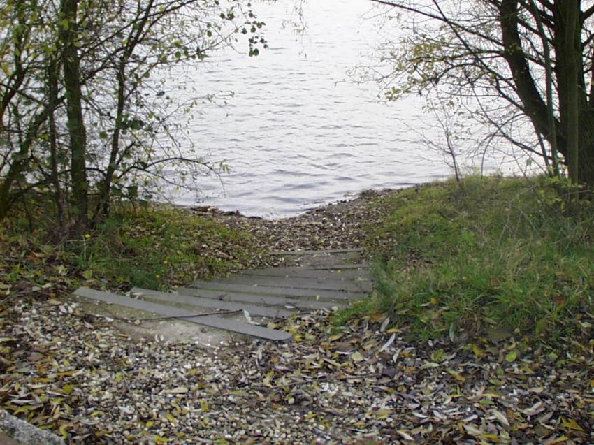
[(354, 300), (363, 298), (367, 295), (365, 292), (360, 291), (326, 291), (320, 289), (303, 289), (294, 287), (284, 287), (283, 278), (279, 277), (278, 286), (261, 285), (259, 279), (245, 280), (246, 284), (239, 284), (238, 282), (227, 283), (227, 282), (196, 282), (192, 284), (191, 288), (194, 289), (205, 289), (211, 291), (227, 291), (227, 292), (238, 292), (238, 293), (255, 293), (256, 295), (271, 295), (278, 297), (298, 297), (298, 298), (318, 298), (319, 300)]

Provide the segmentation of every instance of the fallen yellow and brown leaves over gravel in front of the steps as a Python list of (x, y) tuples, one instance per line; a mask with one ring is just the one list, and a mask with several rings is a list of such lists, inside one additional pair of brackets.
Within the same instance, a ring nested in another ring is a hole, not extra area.
[(291, 344), (133, 343), (75, 303), (0, 312), (0, 402), (69, 443), (594, 442), (594, 353), (410, 342), (383, 316), (277, 323)]

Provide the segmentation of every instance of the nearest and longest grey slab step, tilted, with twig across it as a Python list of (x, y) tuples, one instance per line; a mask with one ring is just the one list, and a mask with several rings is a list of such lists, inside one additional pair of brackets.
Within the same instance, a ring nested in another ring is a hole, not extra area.
[(273, 342), (289, 342), (293, 340), (293, 336), (282, 330), (264, 328), (249, 323), (242, 323), (240, 321), (233, 321), (224, 319), (221, 316), (205, 315), (205, 316), (191, 316), (192, 313), (175, 307), (167, 305), (159, 305), (154, 302), (139, 300), (136, 298), (129, 298), (118, 295), (117, 293), (109, 293), (103, 291), (96, 291), (88, 287), (80, 287), (73, 292), (73, 295), (92, 300), (99, 300), (103, 302), (113, 303), (126, 307), (132, 307), (143, 312), (152, 312), (154, 314), (161, 314), (164, 316), (182, 316), (184, 321), (196, 323), (211, 328), (219, 328), (229, 330), (234, 333), (249, 335), (250, 337), (261, 338), (263, 340), (270, 340)]

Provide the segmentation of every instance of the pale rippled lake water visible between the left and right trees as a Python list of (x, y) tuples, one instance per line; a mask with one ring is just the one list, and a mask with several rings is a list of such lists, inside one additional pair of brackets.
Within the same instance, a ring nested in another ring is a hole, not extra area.
[[(198, 154), (225, 160), (231, 173), (199, 177), (181, 205), (214, 205), (261, 217), (287, 217), (364, 189), (398, 188), (452, 174), (418, 135), (428, 128), (423, 99), (384, 103), (377, 85), (347, 71), (375, 64), (382, 39), (366, 0), (303, 3), (307, 31), (284, 26), (292, 0), (255, 4), (270, 48), (259, 57), (225, 50), (192, 75), (204, 94), (233, 92), (227, 105), (206, 103), (189, 126)], [(295, 19), (295, 17), (292, 17)], [(437, 136), (437, 131), (435, 131)], [(470, 162), (469, 162), (470, 163)]]

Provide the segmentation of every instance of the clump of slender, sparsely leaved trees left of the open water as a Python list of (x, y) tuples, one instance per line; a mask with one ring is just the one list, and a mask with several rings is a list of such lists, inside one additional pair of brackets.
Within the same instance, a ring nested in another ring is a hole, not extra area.
[(265, 44), (240, 0), (0, 0), (0, 17), (0, 220), (27, 194), (50, 194), (64, 231), (99, 224), (114, 194), (136, 197), (158, 166), (210, 167), (154, 149), (177, 125), (168, 70), (238, 34), (249, 55)]

